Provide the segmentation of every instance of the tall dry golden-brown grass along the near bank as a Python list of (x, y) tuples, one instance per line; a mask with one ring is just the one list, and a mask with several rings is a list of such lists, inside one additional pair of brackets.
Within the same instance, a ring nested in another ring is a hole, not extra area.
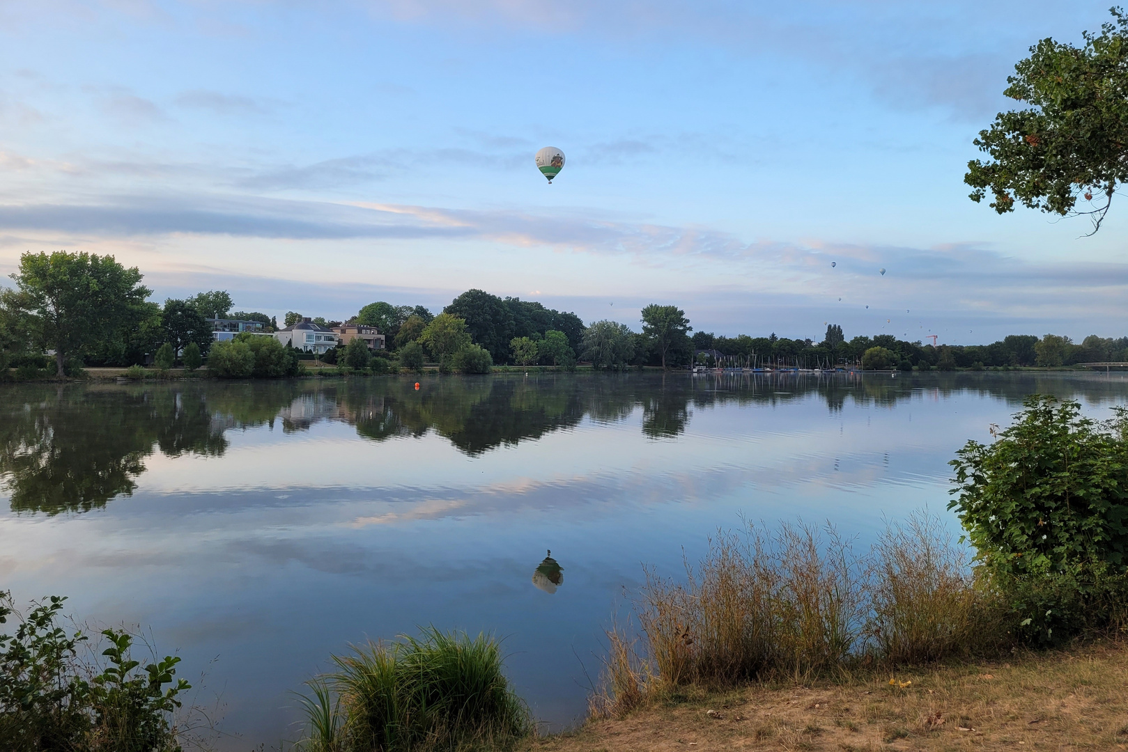
[(609, 632), (597, 715), (620, 715), (659, 688), (968, 655), (1005, 631), (968, 552), (926, 513), (887, 525), (864, 554), (830, 524), (748, 525), (711, 539), (684, 580), (645, 574), (640, 639)]

